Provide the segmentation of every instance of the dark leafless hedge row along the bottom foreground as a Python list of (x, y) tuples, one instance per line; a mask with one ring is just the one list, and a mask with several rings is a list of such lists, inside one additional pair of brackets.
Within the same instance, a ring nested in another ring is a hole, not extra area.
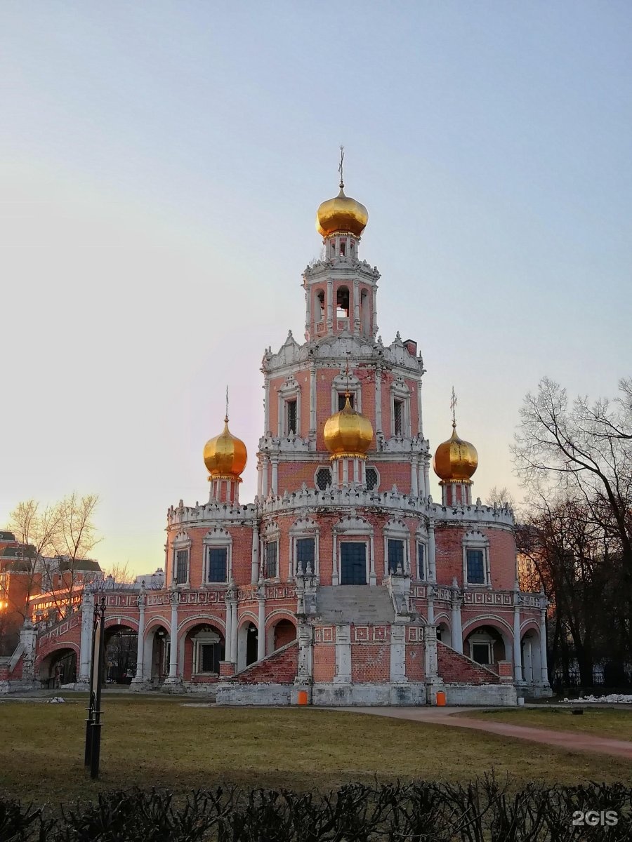
[[(591, 811), (586, 814), (586, 811)], [(616, 823), (614, 823), (616, 817)], [(574, 824), (574, 819), (579, 824)], [(419, 781), (338, 791), (217, 786), (175, 803), (169, 792), (111, 791), (50, 811), (0, 799), (0, 842), (619, 842), (632, 838), (623, 784), (511, 790)]]

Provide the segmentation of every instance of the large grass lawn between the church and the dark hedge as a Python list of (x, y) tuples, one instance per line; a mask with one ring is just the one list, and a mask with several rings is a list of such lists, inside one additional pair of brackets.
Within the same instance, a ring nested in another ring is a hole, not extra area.
[(313, 708), (189, 707), (183, 705), (189, 700), (173, 697), (118, 695), (104, 699), (101, 777), (92, 783), (83, 769), (86, 703), (66, 698), (65, 705), (0, 703), (4, 794), (37, 804), (128, 786), (183, 792), (231, 781), (329, 789), (374, 775), (466, 781), (492, 769), (517, 784), (630, 779), (623, 759), (461, 728)]

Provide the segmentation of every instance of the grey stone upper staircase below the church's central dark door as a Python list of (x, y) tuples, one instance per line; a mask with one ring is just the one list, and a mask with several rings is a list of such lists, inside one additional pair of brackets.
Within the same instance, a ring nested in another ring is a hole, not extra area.
[(383, 587), (350, 584), (321, 587), (316, 605), (317, 614), (325, 623), (382, 626), (395, 619), (393, 600)]

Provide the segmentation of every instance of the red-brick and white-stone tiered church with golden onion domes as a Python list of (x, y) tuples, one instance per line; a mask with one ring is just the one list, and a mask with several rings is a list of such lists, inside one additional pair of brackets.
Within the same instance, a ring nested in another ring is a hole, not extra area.
[[(508, 506), (474, 498), (474, 446), (432, 458), (423, 360), (378, 336), (378, 269), (360, 257), (367, 209), (320, 205), (321, 258), (303, 272), (305, 341), (266, 349), (258, 493), (239, 499), (244, 442), (206, 443), (205, 504), (169, 509), (162, 589), (110, 589), (106, 628), (137, 632), (132, 689), (219, 704), (515, 704), (547, 695), (544, 594), (517, 583)], [(429, 488), (431, 462), (442, 499)], [(89, 674), (94, 593), (26, 624), (0, 688), (74, 653)]]

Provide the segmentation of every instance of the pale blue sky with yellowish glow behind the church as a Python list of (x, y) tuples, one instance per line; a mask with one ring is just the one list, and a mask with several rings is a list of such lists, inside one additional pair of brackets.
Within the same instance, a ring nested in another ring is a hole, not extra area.
[(526, 393), (632, 374), (630, 45), (627, 0), (4, 0), (0, 525), (98, 493), (102, 567), (162, 566), (227, 384), (252, 500), (261, 357), (303, 336), (340, 144), (431, 448), (454, 386), (474, 496), (519, 499)]

